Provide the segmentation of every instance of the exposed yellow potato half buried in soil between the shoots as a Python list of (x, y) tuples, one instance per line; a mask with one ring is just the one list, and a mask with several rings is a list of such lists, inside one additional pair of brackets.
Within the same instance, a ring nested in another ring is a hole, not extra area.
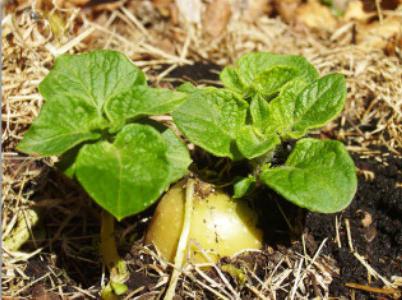
[[(172, 262), (183, 226), (185, 186), (185, 182), (179, 182), (161, 199), (145, 238), (146, 243), (153, 243)], [(211, 185), (198, 182), (186, 257), (201, 263), (208, 261), (202, 251), (217, 261), (244, 249), (260, 249), (262, 232), (256, 227), (256, 220), (255, 212), (245, 201), (232, 200), (224, 192), (214, 191)]]

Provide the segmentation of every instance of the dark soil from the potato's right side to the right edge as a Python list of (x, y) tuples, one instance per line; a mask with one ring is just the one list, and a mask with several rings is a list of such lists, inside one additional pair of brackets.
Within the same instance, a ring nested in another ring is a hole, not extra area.
[[(346, 283), (358, 283), (382, 287), (380, 280), (368, 282), (367, 269), (350, 251), (345, 227), (349, 220), (354, 251), (363, 256), (380, 275), (390, 279), (402, 275), (402, 159), (387, 156), (383, 162), (374, 158), (362, 159), (353, 155), (359, 170), (371, 171), (374, 178), (368, 180), (359, 172), (359, 185), (351, 205), (338, 214), (317, 214), (300, 209), (269, 190), (255, 195), (259, 201), (257, 211), (265, 232), (267, 246), (292, 248), (299, 253), (303, 249), (300, 236), (304, 233), (306, 248), (313, 256), (324, 239), (328, 239), (322, 254), (334, 258), (339, 274), (334, 274), (330, 286), (331, 296), (351, 297)], [(386, 165), (385, 165), (386, 164)], [(281, 210), (279, 210), (281, 207)], [(283, 214), (289, 220), (286, 223)], [(339, 222), (341, 247), (336, 242), (335, 216)], [(377, 299), (378, 294), (355, 291), (356, 299)]]

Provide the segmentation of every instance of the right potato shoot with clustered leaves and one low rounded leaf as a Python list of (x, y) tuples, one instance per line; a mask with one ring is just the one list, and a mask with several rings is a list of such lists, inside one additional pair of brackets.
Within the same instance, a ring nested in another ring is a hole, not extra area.
[[(341, 142), (303, 138), (334, 119), (346, 98), (341, 74), (319, 77), (303, 57), (266, 52), (241, 57), (220, 74), (225, 88), (181, 91), (176, 125), (194, 144), (219, 157), (248, 160), (250, 176), (234, 185), (241, 198), (256, 182), (314, 212), (344, 209), (356, 192), (353, 160)], [(282, 142), (299, 139), (283, 166), (271, 159)]]

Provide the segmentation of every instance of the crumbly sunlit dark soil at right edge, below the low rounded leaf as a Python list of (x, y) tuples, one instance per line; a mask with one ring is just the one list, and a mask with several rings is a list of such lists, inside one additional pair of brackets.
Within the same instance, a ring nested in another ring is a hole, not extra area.
[[(355, 163), (360, 170), (372, 171), (375, 178), (370, 181), (360, 175), (354, 201), (338, 214), (339, 223), (343, 225), (339, 230), (342, 248), (338, 248), (333, 239), (332, 215), (307, 213), (305, 221), (305, 230), (316, 241), (329, 238), (325, 252), (333, 256), (340, 267), (340, 276), (331, 285), (333, 296), (349, 294), (345, 283), (368, 284), (367, 270), (348, 249), (345, 219), (350, 222), (355, 251), (381, 275), (387, 278), (402, 275), (402, 189), (396, 186), (402, 181), (402, 160), (388, 156), (385, 159), (388, 166), (384, 166), (374, 158), (362, 160), (355, 156)], [(373, 280), (371, 286), (377, 285), (381, 286), (381, 282)], [(370, 298), (368, 294), (357, 295), (359, 299)]]

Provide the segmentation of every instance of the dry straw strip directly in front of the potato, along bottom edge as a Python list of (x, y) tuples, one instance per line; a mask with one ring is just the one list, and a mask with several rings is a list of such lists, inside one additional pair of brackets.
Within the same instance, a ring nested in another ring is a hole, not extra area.
[[(321, 254), (324, 244), (325, 241), (314, 257), (268, 248), (239, 253), (230, 262), (219, 265), (187, 265), (180, 270), (176, 293), (190, 299), (328, 298), (328, 286), (339, 270), (330, 257)], [(136, 245), (131, 253), (128, 257), (131, 271), (147, 274), (151, 282), (133, 291), (127, 299), (154, 299), (166, 289), (172, 266), (152, 247)], [(222, 271), (229, 263), (232, 268)], [(207, 266), (212, 268), (206, 269)]]

